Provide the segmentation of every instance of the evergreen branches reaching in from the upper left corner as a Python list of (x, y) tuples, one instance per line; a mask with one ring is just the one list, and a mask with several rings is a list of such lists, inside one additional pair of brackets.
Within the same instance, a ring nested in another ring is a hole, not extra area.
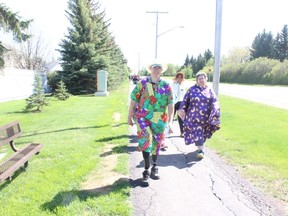
[[(13, 38), (17, 42), (25, 41), (29, 38), (28, 34), (25, 34), (32, 20), (21, 20), (21, 17), (17, 13), (13, 13), (4, 4), (0, 3), (0, 30), (4, 32), (12, 32)], [(7, 49), (0, 41), (0, 69), (4, 67), (3, 55)]]

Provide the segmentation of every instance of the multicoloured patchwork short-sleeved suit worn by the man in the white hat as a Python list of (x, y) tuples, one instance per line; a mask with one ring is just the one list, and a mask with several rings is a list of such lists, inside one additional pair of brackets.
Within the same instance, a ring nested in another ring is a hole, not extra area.
[(158, 83), (152, 83), (148, 76), (136, 84), (131, 92), (131, 100), (138, 103), (135, 111), (138, 148), (158, 155), (165, 138), (168, 104), (173, 103), (171, 87), (162, 79)]

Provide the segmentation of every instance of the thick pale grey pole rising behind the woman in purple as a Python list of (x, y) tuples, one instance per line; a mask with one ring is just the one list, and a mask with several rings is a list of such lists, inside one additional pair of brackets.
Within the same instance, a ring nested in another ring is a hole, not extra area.
[(213, 90), (218, 95), (220, 82), (220, 49), (221, 49), (221, 29), (222, 29), (222, 0), (216, 0), (216, 21), (215, 21), (215, 44), (214, 44), (214, 73)]

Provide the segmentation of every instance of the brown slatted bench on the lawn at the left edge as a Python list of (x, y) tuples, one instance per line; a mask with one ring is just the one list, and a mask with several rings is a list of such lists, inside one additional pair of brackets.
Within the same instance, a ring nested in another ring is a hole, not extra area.
[(13, 173), (20, 167), (26, 169), (29, 158), (35, 154), (39, 154), (39, 150), (43, 147), (39, 143), (30, 143), (18, 150), (14, 144), (14, 140), (21, 135), (22, 131), (18, 121), (0, 126), (0, 147), (10, 144), (14, 151), (11, 157), (0, 164), (0, 183), (6, 179), (11, 180)]

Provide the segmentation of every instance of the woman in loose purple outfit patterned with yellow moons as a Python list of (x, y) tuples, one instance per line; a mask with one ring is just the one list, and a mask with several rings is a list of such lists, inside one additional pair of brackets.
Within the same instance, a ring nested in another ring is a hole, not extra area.
[(180, 104), (178, 115), (184, 120), (185, 144), (197, 146), (197, 158), (204, 157), (206, 139), (220, 129), (220, 105), (212, 88), (207, 86), (207, 74), (198, 72), (196, 84), (189, 88)]

